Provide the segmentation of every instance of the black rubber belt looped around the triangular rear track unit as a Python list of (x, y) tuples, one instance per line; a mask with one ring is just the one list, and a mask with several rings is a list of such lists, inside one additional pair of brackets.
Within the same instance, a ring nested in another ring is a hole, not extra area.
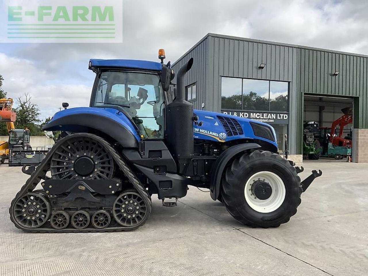
[(130, 231), (135, 230), (138, 227), (142, 226), (144, 223), (133, 226), (133, 227), (123, 227), (123, 226), (112, 226), (112, 227), (106, 227), (104, 229), (96, 229), (94, 227), (87, 227), (85, 229), (74, 229), (74, 228), (65, 228), (61, 230), (54, 229), (52, 227), (40, 227), (36, 229), (27, 229), (24, 227), (21, 227), (19, 224), (17, 224), (13, 217), (13, 206), (15, 202), (22, 196), (24, 196), (28, 192), (32, 192), (37, 184), (43, 179), (43, 177), (46, 176), (47, 171), (50, 169), (51, 164), (51, 158), (53, 153), (57, 149), (57, 145), (62, 144), (63, 142), (67, 141), (68, 139), (72, 139), (75, 137), (89, 137), (92, 139), (95, 139), (96, 141), (100, 142), (102, 145), (106, 147), (107, 150), (110, 151), (112, 158), (116, 162), (116, 164), (119, 166), (121, 171), (125, 174), (125, 176), (128, 178), (130, 183), (134, 186), (134, 188), (137, 190), (139, 195), (141, 195), (142, 199), (144, 199), (145, 204), (147, 206), (147, 215), (145, 218), (145, 221), (149, 219), (149, 216), (151, 214), (151, 199), (149, 195), (147, 194), (145, 188), (140, 183), (138, 178), (134, 175), (134, 173), (130, 170), (130, 168), (127, 166), (127, 164), (124, 162), (123, 159), (121, 159), (121, 156), (115, 151), (115, 149), (104, 139), (89, 133), (76, 133), (76, 134), (70, 134), (62, 139), (60, 139), (50, 150), (50, 152), (47, 153), (45, 159), (42, 160), (42, 162), (37, 166), (37, 169), (32, 173), (31, 177), (28, 178), (26, 183), (23, 185), (21, 190), (15, 195), (15, 198), (11, 201), (11, 205), (9, 208), (10, 213), (10, 219), (14, 223), (14, 225), (26, 232), (32, 232), (32, 233), (102, 233), (102, 232), (118, 232), (118, 231)]

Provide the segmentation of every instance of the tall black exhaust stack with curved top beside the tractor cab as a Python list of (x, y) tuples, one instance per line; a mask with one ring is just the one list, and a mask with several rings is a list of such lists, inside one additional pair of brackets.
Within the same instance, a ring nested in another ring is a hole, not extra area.
[(174, 102), (166, 106), (166, 144), (176, 159), (178, 173), (184, 173), (194, 155), (193, 105), (185, 100), (185, 74), (192, 68), (193, 58), (177, 72), (177, 95)]

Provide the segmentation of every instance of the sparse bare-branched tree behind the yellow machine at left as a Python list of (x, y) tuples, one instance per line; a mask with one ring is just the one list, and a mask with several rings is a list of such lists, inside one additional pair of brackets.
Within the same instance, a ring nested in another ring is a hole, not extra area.
[(32, 97), (29, 94), (25, 93), (24, 96), (25, 99), (17, 98), (19, 106), (15, 108), (17, 113), (15, 128), (28, 128), (31, 135), (43, 135), (39, 126), (41, 120), (38, 118), (40, 110), (36, 104), (31, 102)]

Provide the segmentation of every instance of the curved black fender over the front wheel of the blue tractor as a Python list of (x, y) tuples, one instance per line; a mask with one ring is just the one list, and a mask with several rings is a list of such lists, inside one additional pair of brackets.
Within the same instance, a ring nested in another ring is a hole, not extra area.
[(211, 171), (210, 194), (213, 200), (219, 197), (222, 173), (230, 159), (240, 152), (256, 148), (261, 148), (261, 146), (255, 143), (240, 144), (232, 146), (220, 154)]

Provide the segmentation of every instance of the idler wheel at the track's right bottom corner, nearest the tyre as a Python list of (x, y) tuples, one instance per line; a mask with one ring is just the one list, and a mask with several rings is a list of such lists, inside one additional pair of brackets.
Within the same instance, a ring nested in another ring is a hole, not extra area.
[(113, 204), (114, 219), (125, 227), (143, 224), (147, 218), (147, 211), (146, 203), (134, 190), (125, 191)]

